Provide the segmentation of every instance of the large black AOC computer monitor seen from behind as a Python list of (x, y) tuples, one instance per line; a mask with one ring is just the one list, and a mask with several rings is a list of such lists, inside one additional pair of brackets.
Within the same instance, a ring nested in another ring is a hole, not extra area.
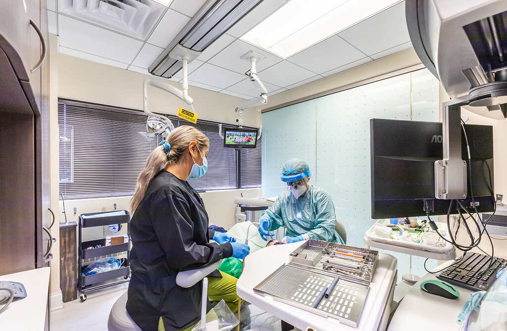
[[(434, 196), (434, 162), (442, 160), (442, 123), (372, 119), (371, 203), (372, 218), (424, 216), (448, 213), (451, 200)], [(470, 213), (493, 210), (493, 128), (465, 125), (470, 145), (472, 176), (467, 175), (467, 197), (461, 199)], [(468, 165), (466, 141), (461, 130), (461, 158)], [(457, 203), (451, 214), (457, 213)]]

